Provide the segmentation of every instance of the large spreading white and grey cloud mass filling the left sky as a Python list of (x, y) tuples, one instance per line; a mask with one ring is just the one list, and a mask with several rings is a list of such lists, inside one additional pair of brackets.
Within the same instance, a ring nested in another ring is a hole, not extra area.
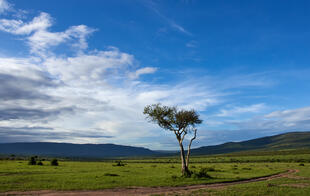
[[(7, 140), (22, 138), (17, 135), (28, 138), (30, 133), (41, 135), (42, 141), (130, 144), (137, 138), (164, 134), (152, 132), (157, 128), (145, 121), (142, 111), (147, 104), (162, 102), (203, 110), (217, 103), (217, 95), (203, 84), (138, 81), (157, 68), (140, 67), (133, 55), (115, 47), (78, 52), (87, 48), (91, 28), (78, 25), (52, 32), (52, 24), (47, 13), (29, 22), (0, 21), (2, 31), (24, 36), (35, 54), (0, 59), (2, 135), (8, 134), (4, 128), (12, 128), (7, 129), (12, 136), (6, 136)], [(73, 44), (77, 53), (57, 55), (51, 46), (61, 43)], [(35, 133), (29, 132), (31, 128)]]

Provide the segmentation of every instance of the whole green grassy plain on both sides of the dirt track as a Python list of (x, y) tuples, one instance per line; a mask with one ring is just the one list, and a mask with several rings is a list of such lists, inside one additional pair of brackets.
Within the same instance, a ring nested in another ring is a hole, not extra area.
[[(308, 195), (310, 193), (309, 154), (251, 154), (193, 157), (190, 165), (194, 174), (207, 172), (209, 176), (191, 178), (180, 176), (179, 157), (128, 159), (123, 166), (115, 161), (60, 161), (59, 166), (28, 165), (26, 160), (0, 161), (0, 191), (28, 190), (100, 190), (118, 187), (154, 187), (207, 184), (240, 181), (268, 176), (288, 169), (297, 169), (295, 178), (208, 189), (191, 194), (211, 195)], [(299, 176), (299, 177), (298, 177)], [(304, 177), (304, 178), (303, 178)], [(290, 185), (292, 184), (292, 185)], [(259, 190), (259, 191), (257, 191)], [(261, 193), (261, 194), (260, 194)], [(190, 193), (188, 193), (190, 194)]]

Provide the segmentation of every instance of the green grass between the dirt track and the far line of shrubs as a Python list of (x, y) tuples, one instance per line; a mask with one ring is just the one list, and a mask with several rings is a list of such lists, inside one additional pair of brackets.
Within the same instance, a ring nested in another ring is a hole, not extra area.
[[(214, 183), (270, 175), (284, 171), (286, 166), (266, 167), (265, 164), (192, 164), (212, 167), (212, 179), (181, 178), (180, 165), (129, 163), (116, 167), (105, 162), (60, 162), (50, 166), (27, 165), (25, 161), (0, 162), (0, 191), (12, 190), (93, 190), (130, 186), (179, 186)], [(244, 169), (250, 168), (250, 169)]]

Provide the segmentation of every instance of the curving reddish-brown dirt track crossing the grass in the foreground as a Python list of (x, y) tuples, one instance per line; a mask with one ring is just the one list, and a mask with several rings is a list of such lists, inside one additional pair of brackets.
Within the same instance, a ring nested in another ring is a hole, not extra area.
[(276, 178), (287, 177), (288, 175), (299, 172), (299, 170), (291, 169), (284, 173), (275, 174), (266, 177), (252, 178), (248, 180), (239, 180), (233, 182), (222, 182), (214, 184), (200, 184), (191, 186), (179, 186), (179, 187), (131, 187), (131, 188), (118, 188), (118, 189), (104, 189), (99, 191), (53, 191), (53, 190), (43, 190), (43, 191), (27, 191), (27, 192), (6, 192), (0, 193), (0, 195), (41, 195), (41, 196), (77, 196), (77, 195), (95, 195), (95, 196), (123, 196), (123, 195), (150, 195), (150, 194), (167, 194), (173, 192), (186, 192), (195, 191), (205, 188), (224, 188), (236, 184), (244, 184), (250, 182), (258, 182), (264, 180), (272, 180)]

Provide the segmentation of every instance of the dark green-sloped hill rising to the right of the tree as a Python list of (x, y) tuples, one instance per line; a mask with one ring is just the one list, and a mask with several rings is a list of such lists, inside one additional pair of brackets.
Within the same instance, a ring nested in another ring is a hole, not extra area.
[(192, 149), (193, 155), (223, 154), (240, 151), (288, 150), (310, 148), (310, 132), (291, 132), (243, 142), (228, 142)]

